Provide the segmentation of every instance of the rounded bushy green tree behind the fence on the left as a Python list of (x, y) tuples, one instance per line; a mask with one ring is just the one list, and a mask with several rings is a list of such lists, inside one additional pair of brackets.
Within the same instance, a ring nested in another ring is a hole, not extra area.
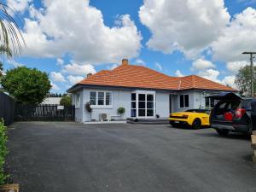
[(47, 73), (27, 67), (7, 71), (2, 86), (17, 102), (31, 104), (43, 102), (51, 88)]

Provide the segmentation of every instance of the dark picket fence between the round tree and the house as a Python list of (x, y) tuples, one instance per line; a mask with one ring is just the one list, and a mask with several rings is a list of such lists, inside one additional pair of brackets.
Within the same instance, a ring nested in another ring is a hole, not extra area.
[(16, 104), (16, 121), (73, 121), (74, 106), (64, 107), (58, 105), (23, 105)]

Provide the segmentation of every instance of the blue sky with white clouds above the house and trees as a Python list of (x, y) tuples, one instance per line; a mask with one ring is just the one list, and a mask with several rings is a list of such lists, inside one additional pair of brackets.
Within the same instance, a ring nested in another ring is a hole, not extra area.
[(253, 0), (7, 3), (16, 10), (26, 48), (5, 61), (5, 69), (24, 65), (49, 73), (52, 92), (116, 67), (121, 58), (172, 76), (194, 73), (236, 86), (237, 70), (248, 64), (240, 53), (256, 50)]

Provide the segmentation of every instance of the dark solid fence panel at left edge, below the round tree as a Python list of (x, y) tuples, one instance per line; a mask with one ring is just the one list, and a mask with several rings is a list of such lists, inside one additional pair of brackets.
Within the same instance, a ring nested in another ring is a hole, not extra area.
[(4, 119), (5, 125), (12, 124), (15, 119), (15, 101), (12, 97), (0, 92), (0, 119)]

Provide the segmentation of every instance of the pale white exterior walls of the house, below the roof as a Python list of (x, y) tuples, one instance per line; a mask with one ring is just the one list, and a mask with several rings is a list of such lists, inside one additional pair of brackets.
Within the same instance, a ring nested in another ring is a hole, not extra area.
[[(90, 101), (90, 91), (108, 91), (113, 93), (113, 106), (111, 107), (92, 107), (92, 113), (86, 111), (85, 104)], [(86, 122), (91, 119), (99, 120), (100, 113), (108, 113), (113, 119), (131, 118), (131, 93), (140, 90), (119, 90), (119, 89), (93, 89), (84, 88), (76, 93), (81, 94), (80, 107), (76, 108), (75, 119), (77, 122)], [(143, 91), (143, 90), (142, 90)], [(149, 90), (152, 91), (152, 90)], [(155, 91), (155, 115), (160, 115), (160, 118), (167, 118), (170, 113), (169, 96), (172, 94), (172, 113), (181, 112), (192, 108), (205, 108), (205, 96), (214, 93), (203, 90), (186, 90), (180, 91), (177, 94), (168, 91)], [(218, 93), (215, 91), (215, 93)], [(189, 108), (179, 108), (179, 96), (189, 95)], [(73, 104), (75, 103), (75, 94), (73, 94)], [(117, 109), (125, 108), (125, 113), (119, 116)]]

